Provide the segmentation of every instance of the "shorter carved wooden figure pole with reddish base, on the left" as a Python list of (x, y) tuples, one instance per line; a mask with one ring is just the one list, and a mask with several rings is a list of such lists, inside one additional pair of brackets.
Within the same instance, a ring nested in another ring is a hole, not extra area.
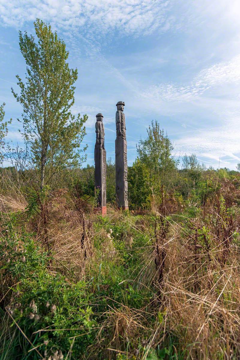
[(96, 144), (94, 149), (94, 161), (95, 161), (95, 188), (99, 191), (98, 194), (98, 210), (102, 212), (102, 215), (107, 213), (106, 207), (106, 150), (104, 147), (104, 125), (102, 122), (103, 115), (96, 115), (97, 121), (95, 124), (96, 129)]

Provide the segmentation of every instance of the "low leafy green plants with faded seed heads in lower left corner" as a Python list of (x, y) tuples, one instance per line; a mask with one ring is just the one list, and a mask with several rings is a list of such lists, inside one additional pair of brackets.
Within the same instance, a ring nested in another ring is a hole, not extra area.
[[(69, 285), (60, 274), (52, 276), (47, 270), (51, 258), (42, 250), (40, 256), (40, 248), (30, 235), (23, 233), (16, 238), (11, 224), (5, 225), (4, 231), (5, 238), (0, 242), (1, 276), (7, 276), (12, 284), (17, 284), (12, 289), (9, 287), (12, 300), (8, 311), (14, 320), (34, 346), (40, 345), (38, 350), (47, 351), (48, 356), (56, 350), (66, 356), (71, 345), (74, 357), (86, 353), (87, 346), (94, 342), (97, 325), (91, 307), (83, 305), (88, 296), (86, 283)], [(2, 327), (5, 325), (3, 321)], [(11, 332), (14, 326), (13, 323)], [(54, 331), (39, 333), (38, 330), (43, 328)], [(24, 342), (22, 335), (17, 336), (12, 345), (13, 334), (9, 336), (0, 337), (1, 349), (8, 348), (8, 356), (22, 360), (39, 358), (34, 351), (28, 354), (31, 345)], [(72, 344), (71, 337), (74, 336), (77, 337)], [(17, 346), (22, 351), (16, 352)]]

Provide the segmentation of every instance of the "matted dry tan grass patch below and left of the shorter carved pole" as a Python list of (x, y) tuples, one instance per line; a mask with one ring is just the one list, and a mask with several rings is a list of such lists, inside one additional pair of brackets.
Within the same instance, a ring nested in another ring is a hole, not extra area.
[(51, 194), (42, 205), (34, 226), (36, 241), (49, 248), (54, 261), (53, 271), (58, 271), (71, 281), (84, 278), (86, 267), (94, 258), (92, 245), (92, 222), (78, 203), (68, 197), (65, 189)]

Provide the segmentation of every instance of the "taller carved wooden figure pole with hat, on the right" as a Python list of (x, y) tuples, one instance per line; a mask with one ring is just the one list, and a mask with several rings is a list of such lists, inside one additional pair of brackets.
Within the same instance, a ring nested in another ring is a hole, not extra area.
[(124, 111), (125, 103), (119, 101), (116, 104), (116, 133), (115, 140), (115, 168), (116, 168), (116, 198), (117, 206), (128, 210), (128, 161), (126, 124)]

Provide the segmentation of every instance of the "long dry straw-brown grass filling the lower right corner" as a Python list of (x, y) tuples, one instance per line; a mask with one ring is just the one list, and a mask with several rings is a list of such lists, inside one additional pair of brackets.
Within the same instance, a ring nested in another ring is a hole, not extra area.
[[(223, 206), (221, 212), (218, 205), (216, 197), (203, 212), (205, 216), (194, 219), (188, 228), (171, 226), (161, 244), (160, 282), (154, 272), (156, 252), (149, 254), (145, 279), (158, 289), (159, 306), (152, 311), (166, 313), (164, 327), (179, 338), (183, 350), (188, 347), (187, 359), (240, 358), (240, 251), (233, 242), (240, 217), (232, 220), (227, 208)], [(207, 240), (195, 231), (204, 226), (208, 227)], [(162, 330), (163, 324), (154, 346), (161, 341)]]

